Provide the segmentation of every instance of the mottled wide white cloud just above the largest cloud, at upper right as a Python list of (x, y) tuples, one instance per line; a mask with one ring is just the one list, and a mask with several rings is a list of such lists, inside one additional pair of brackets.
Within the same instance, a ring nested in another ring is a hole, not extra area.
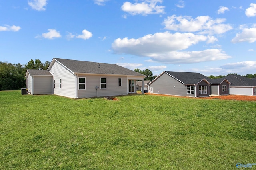
[(226, 19), (213, 20), (209, 16), (168, 16), (164, 19), (165, 29), (182, 32), (198, 32), (199, 34), (222, 34), (232, 29), (232, 26), (223, 24)]

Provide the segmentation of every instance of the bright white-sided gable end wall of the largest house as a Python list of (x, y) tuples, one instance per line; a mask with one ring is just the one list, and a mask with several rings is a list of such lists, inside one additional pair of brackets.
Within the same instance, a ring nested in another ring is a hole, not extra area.
[[(58, 62), (54, 62), (49, 70), (55, 80), (54, 94), (76, 98), (76, 76)], [(60, 88), (61, 79), (61, 88)]]

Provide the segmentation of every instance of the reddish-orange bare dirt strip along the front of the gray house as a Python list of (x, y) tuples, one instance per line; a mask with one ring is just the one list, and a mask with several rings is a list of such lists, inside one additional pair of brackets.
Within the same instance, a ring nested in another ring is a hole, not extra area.
[[(158, 95), (158, 96), (172, 96), (172, 95), (166, 95), (166, 94), (150, 94), (145, 93), (148, 95)], [(174, 97), (181, 97), (181, 98), (189, 98), (189, 97), (182, 97), (182, 96), (174, 96)], [(204, 97), (204, 98), (198, 98), (198, 99), (224, 99), (224, 100), (244, 100), (244, 101), (256, 101), (256, 96), (242, 96), (242, 95), (224, 95), (224, 96), (210, 96), (210, 97)]]

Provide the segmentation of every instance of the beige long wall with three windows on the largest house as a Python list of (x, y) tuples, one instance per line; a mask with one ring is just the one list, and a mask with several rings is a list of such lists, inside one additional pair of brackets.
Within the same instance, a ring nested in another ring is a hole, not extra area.
[[(100, 96), (117, 96), (128, 94), (127, 76), (106, 75), (78, 75), (85, 77), (85, 90), (78, 90), (78, 98), (89, 98)], [(106, 89), (100, 89), (100, 78), (106, 78)], [(118, 86), (118, 78), (121, 78), (122, 86)], [(78, 80), (78, 79), (77, 79)], [(98, 86), (98, 94), (96, 90)]]

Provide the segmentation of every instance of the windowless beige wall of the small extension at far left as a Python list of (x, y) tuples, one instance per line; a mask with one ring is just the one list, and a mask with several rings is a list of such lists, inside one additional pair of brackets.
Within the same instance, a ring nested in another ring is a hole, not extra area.
[(34, 76), (34, 94), (53, 94), (52, 76)]

